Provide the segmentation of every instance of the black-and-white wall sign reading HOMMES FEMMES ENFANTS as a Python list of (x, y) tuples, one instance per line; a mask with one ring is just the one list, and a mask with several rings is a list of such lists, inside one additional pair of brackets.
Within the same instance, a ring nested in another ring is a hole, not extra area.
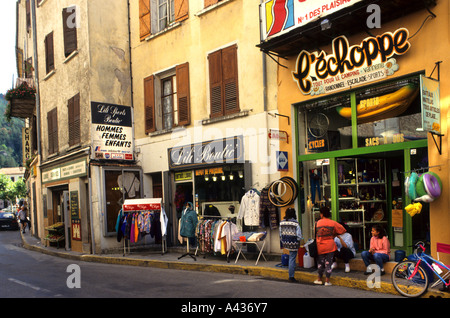
[(91, 102), (92, 159), (133, 160), (131, 107)]

